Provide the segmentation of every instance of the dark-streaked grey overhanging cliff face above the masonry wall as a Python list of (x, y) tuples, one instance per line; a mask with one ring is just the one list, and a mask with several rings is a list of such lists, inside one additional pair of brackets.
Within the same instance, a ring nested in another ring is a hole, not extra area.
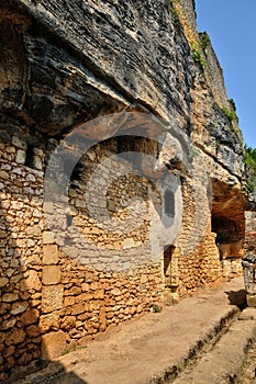
[(153, 112), (241, 178), (243, 144), (222, 111), (231, 105), (220, 65), (210, 42), (203, 48), (192, 3), (172, 3), (1, 4), (1, 113), (56, 135), (124, 108)]

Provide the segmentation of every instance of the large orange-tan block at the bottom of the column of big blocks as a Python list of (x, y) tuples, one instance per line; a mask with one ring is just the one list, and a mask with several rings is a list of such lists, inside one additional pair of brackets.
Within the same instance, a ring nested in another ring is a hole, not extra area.
[(66, 348), (66, 335), (63, 330), (42, 336), (42, 358), (55, 360)]

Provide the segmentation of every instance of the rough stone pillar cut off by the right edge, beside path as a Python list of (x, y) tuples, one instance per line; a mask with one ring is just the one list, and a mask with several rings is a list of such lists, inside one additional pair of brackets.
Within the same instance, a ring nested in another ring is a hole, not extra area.
[(256, 255), (247, 253), (242, 260), (242, 266), (244, 269), (244, 282), (247, 292), (246, 301), (249, 307), (256, 307), (256, 279), (255, 279), (255, 268), (256, 268)]

